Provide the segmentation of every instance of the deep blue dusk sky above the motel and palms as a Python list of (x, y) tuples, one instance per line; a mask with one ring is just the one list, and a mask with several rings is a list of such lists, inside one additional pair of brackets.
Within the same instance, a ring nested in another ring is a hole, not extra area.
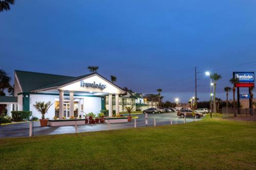
[[(16, 1), (0, 13), (0, 67), (11, 76), (14, 69), (79, 76), (98, 65), (119, 86), (162, 88), (165, 101), (187, 102), (198, 66), (223, 76), (217, 97), (225, 99), (232, 71), (256, 71), (255, 7), (252, 0)], [(209, 79), (198, 79), (198, 98), (208, 100)]]

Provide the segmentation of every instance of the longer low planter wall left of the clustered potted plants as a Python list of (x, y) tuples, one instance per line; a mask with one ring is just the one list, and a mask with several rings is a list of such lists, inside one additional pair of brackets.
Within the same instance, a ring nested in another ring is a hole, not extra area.
[(59, 119), (59, 120), (49, 120), (48, 125), (49, 126), (74, 126), (75, 122), (77, 122), (77, 125), (85, 125), (86, 119)]

